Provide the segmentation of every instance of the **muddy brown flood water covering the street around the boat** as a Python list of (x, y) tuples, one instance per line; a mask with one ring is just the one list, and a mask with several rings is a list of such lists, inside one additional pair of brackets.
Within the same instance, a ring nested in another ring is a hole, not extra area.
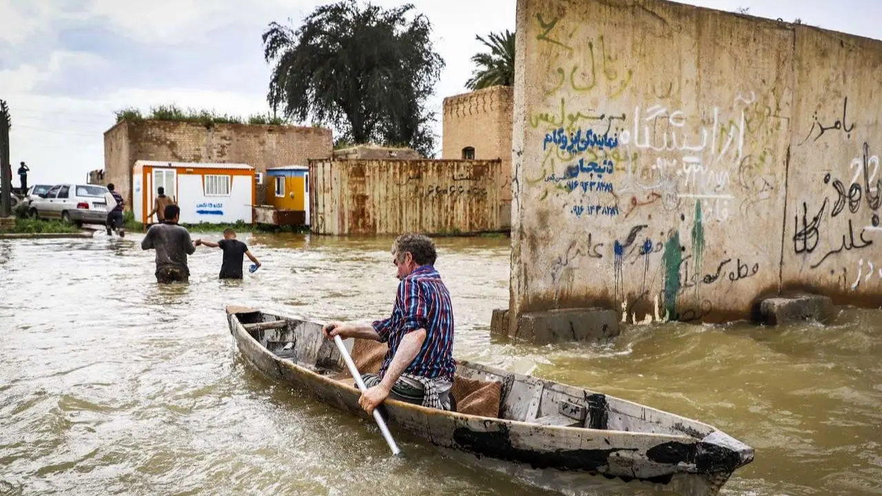
[[(385, 317), (391, 238), (244, 234), (256, 274), (221, 282), (221, 252), (200, 247), (191, 282), (161, 287), (141, 237), (0, 240), (0, 494), (547, 494), (401, 434), (406, 456), (390, 459), (376, 426), (265, 379), (234, 349), (227, 304)], [(882, 312), (514, 345), (489, 335), (509, 243), (437, 240), (457, 357), (719, 427), (756, 449), (724, 494), (882, 494)]]

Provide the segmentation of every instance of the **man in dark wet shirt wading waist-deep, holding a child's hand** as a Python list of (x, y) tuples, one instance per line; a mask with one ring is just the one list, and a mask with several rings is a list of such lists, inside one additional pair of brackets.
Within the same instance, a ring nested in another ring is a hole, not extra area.
[(187, 282), (190, 269), (187, 267), (187, 255), (196, 252), (196, 245), (190, 239), (190, 232), (177, 225), (181, 209), (169, 205), (165, 209), (165, 222), (153, 224), (147, 230), (142, 250), (156, 250), (156, 282)]

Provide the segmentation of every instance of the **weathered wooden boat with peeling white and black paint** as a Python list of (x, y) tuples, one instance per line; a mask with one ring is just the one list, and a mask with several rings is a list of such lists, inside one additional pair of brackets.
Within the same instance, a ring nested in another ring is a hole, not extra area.
[[(261, 372), (367, 417), (321, 324), (244, 307), (227, 313), (238, 348)], [(359, 372), (376, 372), (385, 344), (345, 342)], [(545, 489), (596, 493), (611, 483), (621, 489), (624, 481), (706, 496), (753, 460), (751, 447), (712, 425), (481, 364), (458, 361), (452, 394), (456, 412), (387, 400), (392, 433), (409, 432), (455, 458)]]

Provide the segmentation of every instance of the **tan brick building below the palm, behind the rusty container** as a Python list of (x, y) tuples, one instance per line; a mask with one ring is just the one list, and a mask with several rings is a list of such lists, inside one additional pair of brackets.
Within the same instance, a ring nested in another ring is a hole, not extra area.
[(511, 224), (512, 211), (512, 95), (511, 86), (492, 86), (444, 100), (441, 157), (502, 161), (499, 216), (504, 227)]

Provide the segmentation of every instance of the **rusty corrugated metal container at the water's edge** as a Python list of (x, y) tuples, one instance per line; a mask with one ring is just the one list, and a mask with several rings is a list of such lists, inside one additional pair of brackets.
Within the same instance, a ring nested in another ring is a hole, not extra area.
[(497, 231), (501, 172), (499, 160), (310, 161), (312, 232)]

